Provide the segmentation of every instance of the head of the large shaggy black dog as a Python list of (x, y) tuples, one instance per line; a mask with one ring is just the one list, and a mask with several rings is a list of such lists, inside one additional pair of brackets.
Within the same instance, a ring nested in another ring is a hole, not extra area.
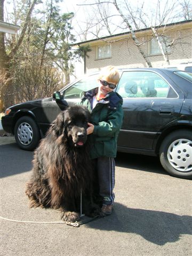
[(62, 111), (53, 123), (57, 137), (65, 134), (69, 143), (75, 147), (83, 147), (87, 140), (87, 122), (90, 112), (83, 106), (72, 106)]

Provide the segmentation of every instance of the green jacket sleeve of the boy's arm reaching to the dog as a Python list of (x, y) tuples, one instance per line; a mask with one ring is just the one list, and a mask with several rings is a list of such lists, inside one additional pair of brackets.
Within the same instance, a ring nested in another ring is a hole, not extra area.
[(123, 123), (123, 108), (119, 103), (116, 110), (108, 111), (107, 121), (102, 121), (94, 126), (93, 134), (99, 137), (114, 137), (115, 133), (121, 129)]

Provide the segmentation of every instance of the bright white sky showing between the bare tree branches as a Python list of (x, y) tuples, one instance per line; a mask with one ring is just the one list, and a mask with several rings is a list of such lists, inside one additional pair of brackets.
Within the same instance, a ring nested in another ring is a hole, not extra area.
[[(43, 0), (43, 1), (46, 1), (46, 0)], [(112, 1), (112, 0), (110, 0), (110, 1)], [(131, 4), (132, 7), (136, 7), (136, 6), (141, 7), (143, 1), (144, 0), (129, 0), (128, 2)], [(145, 0), (144, 1), (145, 4), (143, 7), (143, 10), (145, 10), (146, 13), (149, 14), (149, 19), (154, 19), (157, 1), (158, 0), (153, 0), (153, 1)], [(182, 1), (182, 0), (180, 0), (180, 1)], [(12, 10), (14, 2), (20, 2), (20, 0), (5, 0), (5, 13), (8, 13)], [(72, 26), (74, 28), (74, 34), (77, 36), (77, 42), (83, 41), (83, 36), (79, 35), (79, 34), (81, 34), (80, 33), (81, 30), (86, 27), (87, 20), (90, 20), (90, 17), (92, 18), (92, 20), (94, 20), (94, 18), (97, 17), (97, 13), (94, 12), (94, 10), (93, 10), (93, 7), (96, 8), (96, 5), (92, 5), (92, 6), (79, 6), (79, 5), (92, 4), (94, 2), (95, 2), (94, 0), (63, 0), (63, 2), (59, 4), (62, 13), (66, 13), (66, 12), (74, 12), (75, 13), (75, 18), (73, 19)], [(103, 2), (105, 2), (105, 1), (103, 1)], [(121, 7), (122, 10), (123, 10), (123, 5), (120, 3), (123, 3), (123, 2), (124, 2), (123, 0), (117, 0), (117, 3), (119, 4), (119, 6)], [(161, 6), (162, 6), (162, 11), (163, 11), (163, 8), (164, 8), (166, 2), (167, 2), (167, 0), (160, 1)], [(169, 0), (168, 1), (169, 6), (171, 6), (174, 2), (175, 2), (175, 0)], [(179, 0), (177, 0), (177, 2), (179, 2)], [(41, 6), (41, 5), (38, 5), (38, 7), (39, 6)], [(112, 15), (118, 14), (115, 9), (115, 6), (113, 4), (111, 4), (110, 6), (111, 6), (110, 7), (111, 14)], [(43, 6), (42, 6), (42, 8), (43, 8)], [(5, 17), (6, 16), (9, 17), (9, 14), (6, 14)], [(9, 20), (6, 20), (6, 21), (10, 22)], [(127, 31), (127, 29), (123, 30), (123, 28), (125, 28), (125, 25), (121, 24), (122, 19), (119, 18), (117, 15), (111, 19), (111, 22), (114, 23), (114, 25), (112, 25), (113, 27), (111, 29), (111, 32), (113, 34), (118, 34), (118, 33)], [(117, 25), (117, 24), (121, 24), (121, 28), (115, 30), (115, 28), (116, 28), (115, 25)], [(95, 29), (96, 29), (96, 26), (92, 27), (90, 33), (87, 35), (87, 38), (86, 38), (87, 40), (95, 38)], [(105, 35), (109, 35), (108, 31), (102, 30), (102, 36), (105, 36)]]

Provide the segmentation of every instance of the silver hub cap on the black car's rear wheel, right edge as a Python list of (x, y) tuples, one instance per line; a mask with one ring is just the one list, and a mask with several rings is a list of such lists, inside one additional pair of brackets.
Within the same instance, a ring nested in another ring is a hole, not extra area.
[(192, 141), (179, 139), (170, 145), (167, 158), (174, 169), (182, 172), (192, 170)]

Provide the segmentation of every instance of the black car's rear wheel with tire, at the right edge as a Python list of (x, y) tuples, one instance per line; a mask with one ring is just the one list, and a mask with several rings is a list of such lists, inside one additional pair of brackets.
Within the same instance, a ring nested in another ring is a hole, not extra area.
[(192, 179), (192, 132), (185, 129), (167, 135), (159, 149), (159, 158), (174, 177)]

